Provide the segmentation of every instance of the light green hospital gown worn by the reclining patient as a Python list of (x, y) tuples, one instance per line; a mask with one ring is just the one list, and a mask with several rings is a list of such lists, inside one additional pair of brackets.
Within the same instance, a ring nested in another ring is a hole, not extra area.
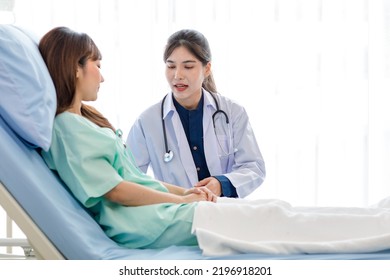
[(42, 156), (117, 243), (129, 248), (197, 244), (191, 234), (196, 203), (126, 207), (104, 197), (123, 180), (168, 191), (136, 167), (131, 153), (111, 129), (64, 112), (55, 118), (50, 150)]

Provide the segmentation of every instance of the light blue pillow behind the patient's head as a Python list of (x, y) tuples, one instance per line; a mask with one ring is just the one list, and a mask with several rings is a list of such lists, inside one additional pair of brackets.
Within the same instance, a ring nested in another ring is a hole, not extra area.
[(28, 144), (51, 144), (56, 94), (38, 40), (14, 25), (0, 24), (0, 117)]

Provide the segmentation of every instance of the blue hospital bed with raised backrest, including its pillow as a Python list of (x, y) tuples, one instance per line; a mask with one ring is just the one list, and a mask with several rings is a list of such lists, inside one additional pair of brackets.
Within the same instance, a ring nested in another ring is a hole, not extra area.
[(22, 246), (27, 259), (390, 259), (390, 250), (212, 258), (192, 246), (119, 246), (40, 156), (39, 150), (50, 144), (55, 93), (36, 42), (23, 29), (0, 25), (0, 205), (27, 237), (14, 243), (3, 239), (5, 244), (0, 239), (0, 246)]

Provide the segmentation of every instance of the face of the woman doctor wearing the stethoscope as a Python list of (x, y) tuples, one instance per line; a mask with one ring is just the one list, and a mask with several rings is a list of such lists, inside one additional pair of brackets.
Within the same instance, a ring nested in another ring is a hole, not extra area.
[(203, 80), (210, 74), (211, 64), (206, 66), (187, 48), (176, 48), (166, 60), (165, 76), (175, 99), (191, 110), (198, 106)]

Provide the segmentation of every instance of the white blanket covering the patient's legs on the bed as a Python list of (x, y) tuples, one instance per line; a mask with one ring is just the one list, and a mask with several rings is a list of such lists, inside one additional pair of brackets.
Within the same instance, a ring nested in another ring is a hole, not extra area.
[(390, 248), (390, 198), (368, 208), (226, 198), (200, 202), (192, 230), (209, 256), (375, 252)]

